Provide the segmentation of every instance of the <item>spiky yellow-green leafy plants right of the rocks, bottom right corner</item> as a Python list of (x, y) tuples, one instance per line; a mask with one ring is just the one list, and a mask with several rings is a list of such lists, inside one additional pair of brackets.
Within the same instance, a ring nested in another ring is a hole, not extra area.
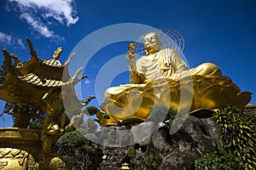
[(218, 152), (195, 161), (196, 169), (253, 169), (256, 167), (255, 117), (239, 111), (236, 106), (213, 114), (223, 145)]

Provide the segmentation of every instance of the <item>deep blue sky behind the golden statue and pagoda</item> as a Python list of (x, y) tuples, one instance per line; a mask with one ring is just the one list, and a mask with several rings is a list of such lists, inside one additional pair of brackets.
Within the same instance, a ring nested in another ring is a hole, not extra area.
[[(26, 37), (29, 37), (41, 59), (51, 58), (55, 48), (61, 46), (61, 62), (64, 63), (84, 37), (105, 26), (137, 23), (155, 28), (172, 28), (183, 34), (183, 54), (190, 67), (204, 62), (215, 63), (241, 91), (253, 93), (250, 103), (254, 103), (255, 8), (254, 0), (2, 0), (0, 48), (18, 55), (22, 61), (28, 60), (30, 55)], [(91, 43), (101, 41), (101, 38), (96, 38)], [(110, 59), (125, 54), (128, 43), (115, 42), (102, 47), (84, 65), (84, 74), (89, 78), (80, 84), (83, 98), (96, 94), (98, 71)], [(83, 57), (88, 51), (90, 48), (84, 47)], [(3, 55), (0, 57), (2, 62)], [(126, 63), (121, 66), (128, 69)], [(126, 71), (115, 77), (112, 85), (128, 82)], [(103, 81), (100, 83), (104, 84)], [(102, 96), (101, 93), (98, 95)], [(100, 105), (101, 102), (102, 97), (99, 97), (90, 105)], [(3, 102), (1, 111), (2, 107)], [(10, 122), (11, 119), (4, 116), (4, 120), (0, 118), (0, 127), (9, 127)]]

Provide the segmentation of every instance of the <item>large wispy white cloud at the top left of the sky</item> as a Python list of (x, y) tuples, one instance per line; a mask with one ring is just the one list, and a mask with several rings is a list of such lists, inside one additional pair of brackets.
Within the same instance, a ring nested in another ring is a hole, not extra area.
[(20, 13), (20, 19), (26, 20), (33, 31), (44, 37), (56, 38), (49, 25), (56, 21), (61, 25), (71, 26), (79, 20), (73, 8), (73, 0), (8, 0), (7, 10)]

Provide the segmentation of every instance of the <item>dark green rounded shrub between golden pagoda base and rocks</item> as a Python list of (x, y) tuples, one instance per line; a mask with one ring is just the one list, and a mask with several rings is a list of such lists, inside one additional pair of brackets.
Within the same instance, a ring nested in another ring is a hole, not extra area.
[(65, 133), (58, 139), (58, 156), (67, 162), (73, 169), (91, 169), (94, 148), (90, 140), (86, 139), (78, 131)]

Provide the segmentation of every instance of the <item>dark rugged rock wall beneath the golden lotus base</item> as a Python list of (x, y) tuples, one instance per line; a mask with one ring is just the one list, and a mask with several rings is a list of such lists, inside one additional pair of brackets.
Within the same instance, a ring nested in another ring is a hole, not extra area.
[[(147, 166), (143, 165), (145, 163), (143, 161), (150, 160), (145, 159), (152, 159), (152, 163), (157, 164), (152, 164), (150, 169), (194, 169), (194, 162), (197, 158), (217, 150), (220, 144), (215, 124), (211, 118), (201, 119), (188, 116), (177, 133), (170, 134), (170, 128), (162, 124), (148, 139), (145, 138), (147, 136), (145, 134), (150, 134), (154, 126), (157, 125), (153, 122), (143, 122), (131, 127), (132, 141), (129, 142), (138, 141), (131, 146), (100, 146), (102, 162), (98, 169), (121, 169), (125, 162), (129, 164), (130, 169), (137, 169), (140, 166)], [(119, 128), (125, 129), (125, 127)], [(109, 136), (113, 133), (119, 135), (114, 131), (115, 129), (108, 128), (100, 134), (104, 137), (101, 138), (102, 140), (106, 139), (102, 141), (104, 144), (109, 142), (113, 144), (114, 141), (109, 141)], [(121, 135), (124, 136), (124, 134)], [(122, 136), (115, 139), (125, 140)], [(115, 141), (115, 144), (119, 144), (119, 141)]]

